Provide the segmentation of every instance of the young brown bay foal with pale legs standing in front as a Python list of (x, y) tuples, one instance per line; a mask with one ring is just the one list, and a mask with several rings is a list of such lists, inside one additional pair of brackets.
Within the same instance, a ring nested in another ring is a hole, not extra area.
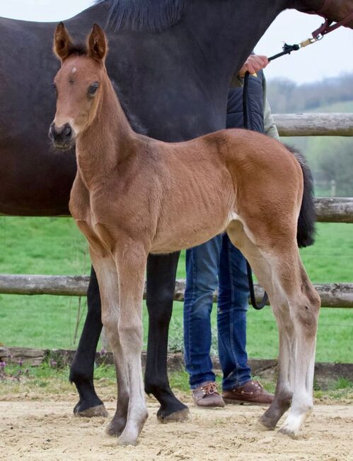
[(147, 255), (190, 248), (225, 230), (266, 289), (279, 327), (277, 388), (260, 421), (274, 428), (291, 405), (280, 431), (296, 435), (313, 406), (320, 305), (297, 247), (297, 237), (311, 239), (313, 224), (303, 216), (305, 168), (281, 143), (245, 130), (185, 143), (134, 133), (105, 70), (107, 42), (97, 25), (85, 47), (74, 45), (60, 23), (54, 51), (62, 67), (50, 138), (57, 148), (76, 141), (69, 207), (89, 243), (117, 370), (108, 433), (134, 444), (147, 418), (141, 379)]

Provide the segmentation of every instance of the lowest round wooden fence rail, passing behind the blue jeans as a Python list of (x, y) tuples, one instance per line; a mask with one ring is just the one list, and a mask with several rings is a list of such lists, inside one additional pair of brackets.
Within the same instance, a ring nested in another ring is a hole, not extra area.
[[(1, 294), (53, 294), (60, 296), (86, 296), (88, 276), (64, 275), (11, 275), (0, 274)], [(323, 307), (353, 308), (353, 284), (316, 284)], [(184, 301), (185, 280), (176, 281), (174, 299)], [(257, 301), (262, 298), (262, 289), (255, 285)], [(144, 291), (146, 298), (146, 287)], [(214, 292), (214, 301), (217, 292)]]

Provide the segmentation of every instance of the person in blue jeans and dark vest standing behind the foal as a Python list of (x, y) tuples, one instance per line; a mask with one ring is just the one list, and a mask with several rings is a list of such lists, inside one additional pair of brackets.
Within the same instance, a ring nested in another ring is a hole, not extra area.
[[(226, 128), (243, 128), (242, 78), (248, 81), (248, 121), (251, 130), (279, 138), (265, 97), (262, 69), (267, 57), (250, 55), (233, 78), (228, 94)], [(256, 73), (257, 72), (257, 73)], [(246, 260), (226, 233), (186, 252), (187, 282), (184, 305), (185, 366), (197, 406), (224, 406), (226, 403), (270, 404), (273, 396), (251, 379), (246, 352), (248, 276)], [(219, 361), (223, 372), (223, 398), (212, 371), (212, 295), (219, 283), (217, 309)]]

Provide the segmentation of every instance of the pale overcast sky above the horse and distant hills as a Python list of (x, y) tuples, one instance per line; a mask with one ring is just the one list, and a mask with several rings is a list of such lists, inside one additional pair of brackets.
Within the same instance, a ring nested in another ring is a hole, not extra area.
[[(0, 0), (0, 16), (26, 21), (61, 21), (93, 4), (92, 0)], [(320, 26), (319, 16), (296, 11), (282, 13), (267, 30), (255, 51), (271, 56), (281, 51), (284, 42), (298, 43)], [(353, 30), (340, 28), (322, 41), (272, 62), (267, 79), (287, 77), (298, 83), (313, 82), (353, 72)]]

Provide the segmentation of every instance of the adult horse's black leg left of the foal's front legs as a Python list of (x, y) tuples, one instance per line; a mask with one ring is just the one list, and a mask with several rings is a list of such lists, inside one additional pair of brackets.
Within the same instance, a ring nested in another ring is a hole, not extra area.
[(91, 268), (91, 278), (87, 291), (88, 311), (83, 326), (79, 347), (70, 369), (70, 381), (79, 392), (79, 402), (74, 413), (79, 416), (108, 416), (103, 401), (96, 394), (93, 385), (94, 360), (97, 344), (102, 331), (100, 294), (96, 272)]

